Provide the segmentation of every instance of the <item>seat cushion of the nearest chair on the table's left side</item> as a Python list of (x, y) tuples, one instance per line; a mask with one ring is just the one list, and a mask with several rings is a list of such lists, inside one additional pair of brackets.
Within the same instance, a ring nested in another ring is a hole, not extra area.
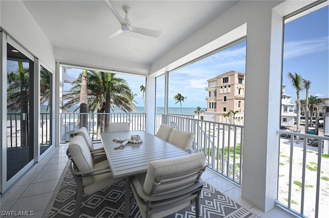
[[(102, 161), (94, 165), (94, 169), (108, 167), (108, 161)], [(101, 171), (100, 171), (101, 172)], [(94, 175), (94, 183), (89, 184), (83, 187), (83, 192), (85, 194), (93, 194), (96, 191), (99, 191), (103, 188), (111, 186), (115, 183), (120, 182), (122, 179), (114, 179), (112, 176), (112, 172), (106, 172), (99, 175)]]

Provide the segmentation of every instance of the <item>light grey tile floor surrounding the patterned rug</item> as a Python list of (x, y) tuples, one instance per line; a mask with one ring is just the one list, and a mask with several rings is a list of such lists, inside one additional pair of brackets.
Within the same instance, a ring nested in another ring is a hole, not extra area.
[[(52, 149), (43, 160), (36, 164), (30, 172), (16, 185), (16, 187), (2, 196), (1, 211), (33, 211), (36, 218), (41, 218), (56, 188), (68, 161), (67, 145)], [(203, 174), (203, 179), (216, 189), (230, 196), (237, 203), (259, 214), (260, 217), (284, 218), (294, 217), (279, 208), (273, 208), (264, 213), (241, 199), (241, 188), (217, 176), (211, 171)], [(4, 216), (1, 217), (15, 217)], [(23, 216), (20, 216), (23, 217)], [(31, 217), (31, 216), (29, 216)]]

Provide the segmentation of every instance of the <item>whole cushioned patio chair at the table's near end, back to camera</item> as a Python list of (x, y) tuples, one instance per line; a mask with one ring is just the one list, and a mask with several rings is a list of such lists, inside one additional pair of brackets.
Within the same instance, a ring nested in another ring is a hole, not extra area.
[(199, 218), (199, 195), (206, 169), (204, 153), (149, 163), (147, 173), (131, 177), (133, 196), (143, 218), (165, 217), (195, 202)]

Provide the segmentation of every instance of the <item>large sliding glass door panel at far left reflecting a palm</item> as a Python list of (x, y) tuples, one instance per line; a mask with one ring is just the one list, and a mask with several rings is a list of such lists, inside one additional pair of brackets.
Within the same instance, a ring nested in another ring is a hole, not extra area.
[(34, 62), (7, 43), (7, 181), (33, 160)]

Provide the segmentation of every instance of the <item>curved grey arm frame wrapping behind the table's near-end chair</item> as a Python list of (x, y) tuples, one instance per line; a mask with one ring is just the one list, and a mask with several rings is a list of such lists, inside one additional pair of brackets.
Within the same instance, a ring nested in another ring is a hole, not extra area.
[(193, 192), (198, 187), (202, 187), (204, 185), (204, 183), (205, 183), (205, 181), (200, 179), (197, 183), (195, 183), (187, 188), (184, 188), (182, 190), (179, 190), (179, 191), (170, 192), (168, 194), (164, 193), (161, 195), (147, 195), (144, 193), (143, 187), (141, 186), (137, 177), (136, 176), (131, 177), (131, 185), (134, 186), (134, 189), (138, 193), (139, 197), (141, 197), (142, 199), (144, 199), (146, 201), (159, 201), (159, 200), (163, 200), (163, 199), (171, 199), (173, 197), (177, 197), (179, 195), (186, 194), (188, 192)]

